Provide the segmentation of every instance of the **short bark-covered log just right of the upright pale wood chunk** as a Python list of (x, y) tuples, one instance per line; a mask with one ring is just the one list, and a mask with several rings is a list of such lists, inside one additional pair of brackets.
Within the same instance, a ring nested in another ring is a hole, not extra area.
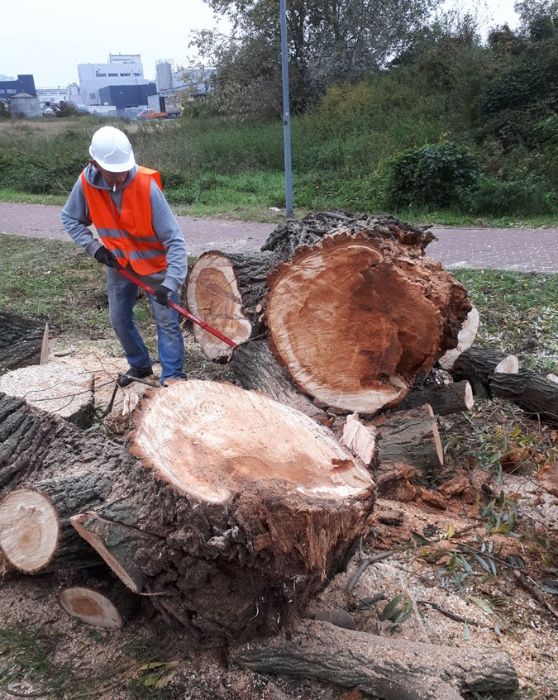
[(444, 449), (436, 417), (428, 404), (376, 419), (380, 468), (406, 465), (425, 476), (440, 472)]

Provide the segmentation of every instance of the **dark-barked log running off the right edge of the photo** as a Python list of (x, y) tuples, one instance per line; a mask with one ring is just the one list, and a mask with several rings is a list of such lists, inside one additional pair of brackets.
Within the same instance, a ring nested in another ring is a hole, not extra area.
[(558, 384), (535, 372), (496, 372), (490, 379), (493, 396), (508, 399), (530, 415), (558, 423)]

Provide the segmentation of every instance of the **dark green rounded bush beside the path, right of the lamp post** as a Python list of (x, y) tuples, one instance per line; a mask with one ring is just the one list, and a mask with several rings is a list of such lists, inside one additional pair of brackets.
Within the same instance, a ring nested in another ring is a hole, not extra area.
[(451, 142), (421, 146), (392, 161), (389, 202), (395, 208), (443, 209), (459, 203), (478, 176), (477, 160), (463, 146)]

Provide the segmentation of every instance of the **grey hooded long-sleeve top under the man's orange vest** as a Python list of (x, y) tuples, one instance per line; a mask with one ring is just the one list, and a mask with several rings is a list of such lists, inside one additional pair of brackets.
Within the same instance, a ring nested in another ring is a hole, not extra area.
[[(136, 168), (128, 173), (122, 187), (115, 192), (104, 181), (101, 173), (90, 163), (85, 169), (87, 181), (98, 189), (108, 190), (112, 201), (118, 211), (122, 206), (122, 190), (134, 179)], [(167, 270), (163, 284), (176, 291), (186, 279), (187, 272), (187, 251), (186, 241), (182, 229), (178, 225), (176, 217), (171, 211), (165, 195), (157, 187), (155, 182), (151, 183), (151, 220), (153, 231), (157, 238), (166, 248)], [(97, 240), (89, 230), (92, 224), (87, 201), (81, 184), (81, 176), (74, 185), (68, 201), (64, 205), (61, 214), (62, 225), (71, 239), (81, 246), (89, 255), (95, 255), (102, 243)]]

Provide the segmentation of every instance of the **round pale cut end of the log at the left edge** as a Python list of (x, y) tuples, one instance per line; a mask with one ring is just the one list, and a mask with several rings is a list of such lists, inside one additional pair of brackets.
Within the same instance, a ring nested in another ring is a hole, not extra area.
[(18, 571), (43, 569), (58, 548), (59, 530), (56, 509), (36, 491), (12, 491), (0, 501), (0, 550)]

